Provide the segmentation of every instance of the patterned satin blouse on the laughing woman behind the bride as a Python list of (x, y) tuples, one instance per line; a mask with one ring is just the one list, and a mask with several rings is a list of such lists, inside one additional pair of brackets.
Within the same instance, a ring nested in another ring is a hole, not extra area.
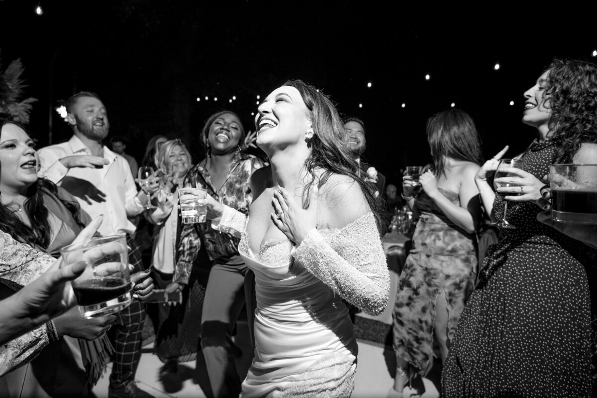
[[(245, 153), (237, 153), (233, 158), (230, 171), (221, 188), (216, 188), (206, 168), (207, 158), (193, 167), (184, 178), (186, 188), (205, 188), (214, 199), (241, 213), (248, 214), (253, 196), (250, 179), (253, 172), (264, 166), (260, 158)], [(174, 282), (187, 284), (193, 262), (197, 258), (201, 245), (205, 245), (210, 260), (228, 264), (241, 264), (238, 254), (239, 239), (211, 228), (211, 222), (183, 224), (180, 233), (178, 261), (174, 270)]]

